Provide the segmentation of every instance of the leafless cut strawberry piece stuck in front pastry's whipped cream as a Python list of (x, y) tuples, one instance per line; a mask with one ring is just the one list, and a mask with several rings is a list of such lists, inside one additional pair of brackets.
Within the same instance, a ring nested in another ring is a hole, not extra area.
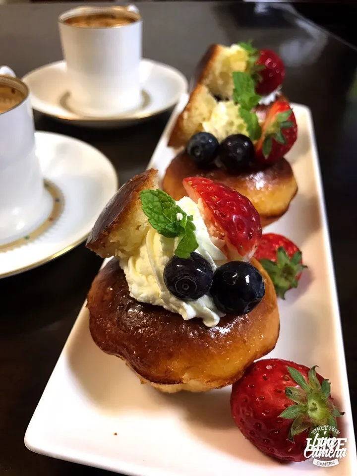
[(210, 235), (223, 241), (226, 255), (232, 260), (251, 258), (262, 235), (251, 202), (233, 188), (203, 177), (184, 179), (183, 186), (201, 206)]

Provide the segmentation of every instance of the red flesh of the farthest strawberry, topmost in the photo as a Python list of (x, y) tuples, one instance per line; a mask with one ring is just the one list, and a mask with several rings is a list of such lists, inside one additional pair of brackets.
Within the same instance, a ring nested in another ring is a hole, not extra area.
[(260, 50), (260, 56), (255, 62), (255, 66), (258, 66), (258, 80), (255, 85), (255, 91), (258, 94), (266, 96), (282, 84), (285, 67), (281, 58), (274, 51)]

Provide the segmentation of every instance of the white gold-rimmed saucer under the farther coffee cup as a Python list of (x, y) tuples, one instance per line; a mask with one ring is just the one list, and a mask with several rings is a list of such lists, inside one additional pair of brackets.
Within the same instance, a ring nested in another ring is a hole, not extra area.
[(119, 116), (92, 118), (70, 108), (66, 63), (56, 61), (26, 74), (22, 80), (31, 92), (33, 109), (72, 124), (90, 127), (123, 127), (173, 107), (187, 90), (187, 80), (177, 69), (152, 60), (140, 64), (143, 102), (140, 108)]

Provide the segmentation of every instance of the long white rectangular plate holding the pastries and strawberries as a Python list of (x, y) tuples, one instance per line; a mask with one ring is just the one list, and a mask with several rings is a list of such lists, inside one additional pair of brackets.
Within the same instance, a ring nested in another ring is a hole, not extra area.
[[(173, 113), (150, 162), (163, 176), (175, 151), (167, 147)], [(279, 301), (281, 332), (270, 357), (317, 364), (346, 412), (340, 418), (347, 456), (333, 468), (311, 460), (282, 465), (241, 435), (230, 415), (230, 388), (164, 395), (91, 339), (83, 306), (31, 419), (26, 446), (35, 452), (135, 476), (357, 475), (355, 437), (334, 273), (311, 115), (294, 105), (298, 140), (288, 156), (299, 191), (269, 231), (292, 238), (309, 266), (297, 290)], [(267, 231), (268, 229), (266, 229)], [(160, 343), (158, 342), (158, 345)]]

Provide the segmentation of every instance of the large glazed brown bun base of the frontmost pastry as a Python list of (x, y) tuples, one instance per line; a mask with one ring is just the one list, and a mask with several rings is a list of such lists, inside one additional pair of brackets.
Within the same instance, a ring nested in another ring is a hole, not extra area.
[(202, 392), (237, 381), (254, 360), (274, 347), (279, 312), (274, 286), (260, 266), (265, 296), (249, 314), (226, 315), (215, 327), (201, 319), (183, 320), (163, 307), (130, 297), (119, 262), (112, 259), (88, 294), (89, 326), (102, 351), (120, 357), (162, 392)]

